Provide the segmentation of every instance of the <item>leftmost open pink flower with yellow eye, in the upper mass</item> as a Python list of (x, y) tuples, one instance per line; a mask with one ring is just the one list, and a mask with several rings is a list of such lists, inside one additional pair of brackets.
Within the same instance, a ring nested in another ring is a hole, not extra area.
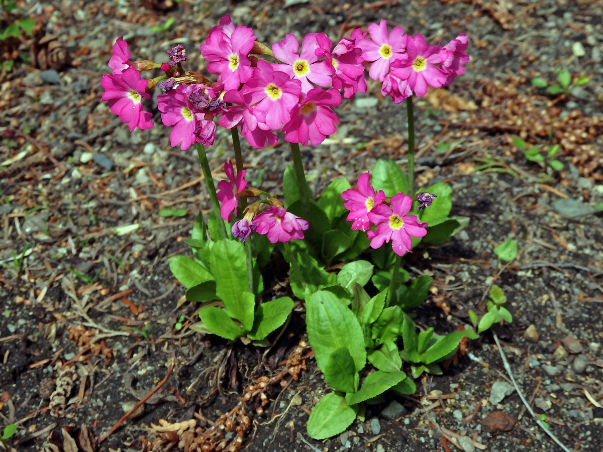
[(140, 73), (128, 67), (121, 74), (103, 75), (101, 87), (105, 90), (102, 101), (107, 101), (109, 110), (119, 115), (119, 119), (130, 127), (130, 131), (138, 127), (153, 127), (151, 113), (142, 109), (142, 98), (151, 96), (145, 92), (147, 80), (140, 78)]

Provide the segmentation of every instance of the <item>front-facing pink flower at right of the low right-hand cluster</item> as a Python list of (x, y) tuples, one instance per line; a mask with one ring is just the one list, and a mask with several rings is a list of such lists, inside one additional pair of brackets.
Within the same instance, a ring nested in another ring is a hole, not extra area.
[(384, 242), (390, 242), (391, 247), (398, 256), (403, 256), (407, 251), (412, 253), (411, 237), (423, 237), (427, 234), (427, 223), (417, 220), (415, 215), (408, 215), (411, 210), (412, 198), (398, 193), (387, 204), (380, 204), (368, 213), (368, 218), (377, 226), (376, 230), (368, 230), (367, 236), (371, 240), (371, 248), (379, 248)]

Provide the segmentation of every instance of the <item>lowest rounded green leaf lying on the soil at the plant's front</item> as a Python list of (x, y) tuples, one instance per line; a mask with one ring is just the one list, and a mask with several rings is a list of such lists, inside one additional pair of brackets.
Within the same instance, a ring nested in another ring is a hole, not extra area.
[(321, 398), (308, 418), (308, 435), (312, 439), (325, 439), (346, 430), (358, 413), (358, 406), (349, 406), (346, 398), (331, 392)]

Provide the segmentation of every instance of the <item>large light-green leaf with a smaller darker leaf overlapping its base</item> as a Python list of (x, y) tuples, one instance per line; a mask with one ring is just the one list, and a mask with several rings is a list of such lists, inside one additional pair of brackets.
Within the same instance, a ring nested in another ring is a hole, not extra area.
[(308, 341), (323, 372), (330, 354), (341, 347), (349, 349), (356, 371), (364, 367), (367, 354), (362, 328), (352, 311), (333, 293), (318, 290), (306, 300), (306, 324)]

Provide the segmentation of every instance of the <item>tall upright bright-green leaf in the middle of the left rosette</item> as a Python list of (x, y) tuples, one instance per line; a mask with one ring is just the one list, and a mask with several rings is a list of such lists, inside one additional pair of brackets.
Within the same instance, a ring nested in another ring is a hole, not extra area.
[(210, 265), (216, 280), (216, 295), (223, 301), (224, 310), (251, 330), (255, 301), (253, 293), (248, 292), (245, 245), (234, 240), (218, 240), (212, 246)]

